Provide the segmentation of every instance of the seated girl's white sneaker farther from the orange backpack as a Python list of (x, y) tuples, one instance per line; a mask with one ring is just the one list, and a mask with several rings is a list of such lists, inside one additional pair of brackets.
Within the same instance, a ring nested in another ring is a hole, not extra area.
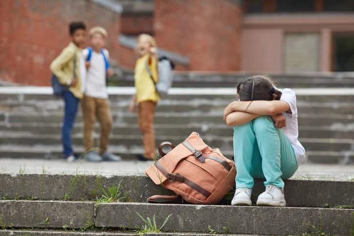
[(275, 185), (266, 185), (266, 191), (258, 196), (257, 206), (285, 207), (284, 189)]

